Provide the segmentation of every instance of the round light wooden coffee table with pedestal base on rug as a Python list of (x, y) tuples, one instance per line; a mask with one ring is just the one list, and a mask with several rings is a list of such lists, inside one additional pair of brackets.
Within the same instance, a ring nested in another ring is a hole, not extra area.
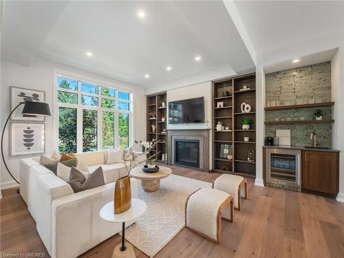
[(159, 189), (160, 180), (171, 175), (172, 170), (166, 166), (159, 166), (159, 171), (154, 173), (146, 173), (142, 171), (142, 166), (136, 166), (131, 169), (132, 178), (141, 180), (141, 185), (146, 192), (155, 192)]

